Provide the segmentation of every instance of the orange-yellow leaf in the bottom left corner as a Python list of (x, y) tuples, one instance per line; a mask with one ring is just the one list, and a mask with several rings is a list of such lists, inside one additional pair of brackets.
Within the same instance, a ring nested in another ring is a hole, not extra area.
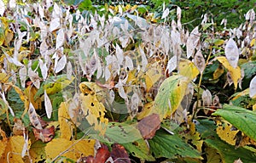
[[(23, 162), (21, 152), (24, 143), (24, 138), (21, 136), (10, 137), (0, 162)], [(30, 141), (27, 148), (30, 148)]]

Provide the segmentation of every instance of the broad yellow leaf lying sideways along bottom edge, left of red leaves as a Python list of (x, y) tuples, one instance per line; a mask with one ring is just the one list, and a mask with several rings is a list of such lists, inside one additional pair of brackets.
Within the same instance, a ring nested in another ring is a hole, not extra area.
[(94, 155), (95, 140), (74, 140), (66, 138), (54, 138), (45, 147), (46, 158), (53, 160), (55, 157), (65, 156), (72, 160), (78, 160), (81, 155)]

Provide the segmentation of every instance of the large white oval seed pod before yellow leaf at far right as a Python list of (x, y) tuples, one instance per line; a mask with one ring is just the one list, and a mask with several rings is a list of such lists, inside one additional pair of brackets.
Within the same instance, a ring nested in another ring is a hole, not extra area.
[(230, 65), (236, 69), (238, 59), (239, 59), (239, 51), (236, 46), (236, 42), (232, 38), (227, 42), (226, 47), (224, 49), (225, 56), (228, 59)]

